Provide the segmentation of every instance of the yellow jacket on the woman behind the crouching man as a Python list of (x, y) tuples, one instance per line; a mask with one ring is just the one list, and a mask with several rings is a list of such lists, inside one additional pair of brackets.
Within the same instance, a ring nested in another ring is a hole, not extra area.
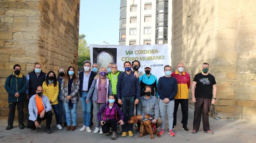
[(51, 105), (58, 104), (58, 95), (59, 95), (59, 83), (54, 87), (54, 84), (46, 85), (46, 82), (43, 82), (43, 95), (49, 98), (49, 101), (52, 101)]

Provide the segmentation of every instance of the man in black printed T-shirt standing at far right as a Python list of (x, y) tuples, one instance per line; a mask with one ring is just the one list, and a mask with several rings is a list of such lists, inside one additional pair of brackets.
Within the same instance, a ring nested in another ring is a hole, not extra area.
[[(208, 73), (209, 64), (203, 63), (202, 72), (196, 74), (192, 82), (192, 101), (195, 103), (193, 131), (197, 133), (200, 127), (201, 116), (203, 115), (203, 131), (213, 134), (209, 125), (210, 104), (215, 104), (216, 81), (213, 75)], [(211, 98), (213, 96), (213, 100)]]

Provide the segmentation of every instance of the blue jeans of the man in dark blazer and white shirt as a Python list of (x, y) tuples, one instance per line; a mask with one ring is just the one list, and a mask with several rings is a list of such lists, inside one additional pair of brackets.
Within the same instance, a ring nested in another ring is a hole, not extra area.
[(80, 97), (82, 109), (83, 109), (83, 124), (86, 127), (91, 125), (91, 117), (92, 117), (92, 99), (89, 100), (89, 103), (86, 103), (86, 97), (88, 93), (83, 92), (82, 97)]

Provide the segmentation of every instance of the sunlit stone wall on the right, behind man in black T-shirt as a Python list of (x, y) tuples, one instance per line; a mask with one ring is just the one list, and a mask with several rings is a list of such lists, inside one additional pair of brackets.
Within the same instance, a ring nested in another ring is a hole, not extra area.
[(183, 62), (193, 80), (203, 62), (210, 64), (221, 118), (256, 121), (255, 6), (254, 0), (173, 0), (172, 65)]

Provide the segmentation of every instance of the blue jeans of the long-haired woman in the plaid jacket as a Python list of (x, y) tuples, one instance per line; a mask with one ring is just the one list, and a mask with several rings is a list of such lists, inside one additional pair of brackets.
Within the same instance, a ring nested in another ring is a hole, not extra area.
[(77, 103), (73, 103), (73, 108), (69, 109), (68, 103), (64, 102), (64, 106), (65, 106), (65, 111), (66, 111), (66, 121), (68, 125), (71, 125), (71, 117), (70, 115), (72, 114), (72, 125), (76, 126), (76, 116), (77, 116), (77, 112), (76, 112), (76, 107), (77, 107)]

